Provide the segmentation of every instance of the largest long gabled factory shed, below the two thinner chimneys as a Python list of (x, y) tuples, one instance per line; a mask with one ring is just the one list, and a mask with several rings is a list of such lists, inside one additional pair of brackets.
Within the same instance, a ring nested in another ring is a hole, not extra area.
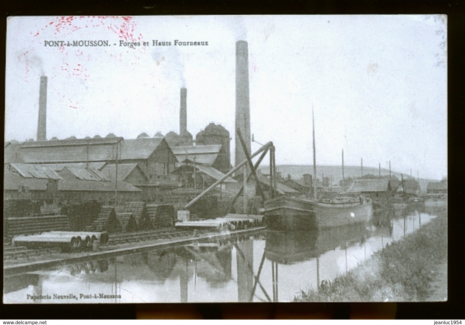
[(20, 145), (10, 143), (6, 148), (7, 162), (43, 164), (57, 171), (65, 166), (102, 169), (106, 164), (135, 163), (147, 177), (147, 181), (143, 182), (145, 185), (154, 185), (160, 179), (172, 181), (170, 173), (177, 163), (168, 143), (160, 137), (124, 140), (108, 135), (105, 138), (71, 138), (24, 142)]

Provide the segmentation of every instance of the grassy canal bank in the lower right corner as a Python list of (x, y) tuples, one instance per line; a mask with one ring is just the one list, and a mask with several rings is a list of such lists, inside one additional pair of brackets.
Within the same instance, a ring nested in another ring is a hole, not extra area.
[(295, 301), (425, 301), (438, 266), (446, 262), (447, 211), (319, 291), (302, 291)]

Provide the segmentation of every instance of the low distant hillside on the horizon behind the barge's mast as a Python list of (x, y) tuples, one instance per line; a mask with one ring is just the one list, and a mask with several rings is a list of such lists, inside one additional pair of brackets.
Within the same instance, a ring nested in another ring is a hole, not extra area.
[[(300, 179), (304, 174), (313, 175), (313, 165), (277, 165), (278, 171), (281, 172), (283, 177), (286, 177), (288, 174), (291, 175), (292, 179)], [(260, 168), (262, 174), (269, 174), (270, 167), (263, 166)], [(318, 166), (317, 167), (317, 178), (321, 179), (322, 174), (326, 176), (332, 175), (334, 183), (338, 183), (342, 179), (342, 166)], [(363, 174), (372, 174), (379, 175), (379, 169), (374, 167), (363, 167)], [(381, 175), (389, 175), (389, 169), (381, 168)], [(400, 173), (392, 171), (392, 175), (401, 178)], [(361, 169), (360, 166), (344, 166), (344, 177), (360, 177)], [(415, 175), (412, 175), (415, 177)], [(404, 174), (405, 178), (409, 178), (410, 175)], [(416, 178), (416, 177), (415, 177)], [(420, 178), (420, 188), (421, 190), (426, 190), (426, 185), (428, 182), (434, 182), (438, 180)]]

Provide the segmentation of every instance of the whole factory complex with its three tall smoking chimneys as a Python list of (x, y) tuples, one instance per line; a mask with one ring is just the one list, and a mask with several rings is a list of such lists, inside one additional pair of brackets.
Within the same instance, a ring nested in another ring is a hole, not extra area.
[[(210, 123), (197, 133), (194, 141), (187, 130), (187, 89), (180, 88), (179, 94), (179, 134), (171, 131), (164, 136), (157, 132), (150, 137), (147, 133), (141, 133), (136, 139), (124, 139), (110, 133), (105, 137), (95, 135), (77, 139), (71, 136), (64, 140), (52, 138), (47, 141), (47, 77), (41, 76), (37, 141), (7, 142), (4, 163), (40, 165), (60, 178), (25, 177), (8, 171), (5, 186), (11, 183), (10, 187), (18, 190), (20, 183), (24, 183), (25, 189), (28, 189), (26, 183), (31, 182), (29, 188), (40, 192), (44, 186), (47, 190), (47, 183), (59, 184), (61, 179), (65, 179), (67, 183), (56, 186), (59, 192), (66, 192), (66, 195), (58, 195), (62, 199), (74, 196), (76, 200), (86, 200), (93, 196), (108, 201), (110, 196), (102, 193), (126, 191), (131, 193), (127, 195), (128, 198), (152, 201), (188, 185), (190, 181), (185, 180), (184, 176), (189, 170), (195, 170), (193, 174), (199, 173), (202, 183), (213, 183), (232, 168), (230, 133), (223, 126)], [(249, 111), (247, 42), (239, 41), (236, 43), (236, 127), (241, 129), (250, 152)], [(236, 135), (236, 163), (243, 159), (245, 155)], [(233, 179), (228, 181), (236, 183)], [(112, 190), (106, 191), (109, 187)], [(88, 195), (83, 194), (86, 189)], [(97, 195), (97, 192), (100, 194)], [(116, 195), (119, 193), (114, 193)], [(42, 194), (42, 197), (48, 196), (47, 193)]]

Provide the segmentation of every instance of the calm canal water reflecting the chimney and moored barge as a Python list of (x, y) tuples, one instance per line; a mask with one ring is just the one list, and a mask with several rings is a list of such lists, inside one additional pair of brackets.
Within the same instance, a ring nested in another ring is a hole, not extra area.
[[(4, 303), (292, 301), (430, 222), (402, 207), (323, 231), (261, 230), (224, 241), (66, 265), (4, 278)], [(34, 299), (36, 298), (36, 299)]]

